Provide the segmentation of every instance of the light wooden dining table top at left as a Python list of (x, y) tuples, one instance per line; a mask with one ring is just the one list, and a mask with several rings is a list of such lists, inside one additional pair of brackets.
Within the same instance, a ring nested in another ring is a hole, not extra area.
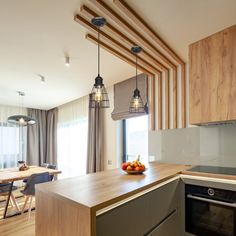
[(0, 169), (0, 183), (12, 182), (29, 178), (32, 174), (48, 172), (50, 175), (60, 174), (61, 171), (45, 167), (30, 166), (29, 170), (19, 171), (18, 168)]

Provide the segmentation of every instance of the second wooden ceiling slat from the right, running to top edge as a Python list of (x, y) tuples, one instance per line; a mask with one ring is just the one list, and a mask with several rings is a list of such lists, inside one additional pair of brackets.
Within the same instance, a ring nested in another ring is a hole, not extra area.
[(112, 10), (104, 1), (102, 0), (90, 0), (97, 9), (100, 10), (102, 16), (111, 19), (117, 25), (122, 27), (129, 35), (136, 40), (136, 44), (148, 50), (155, 57), (158, 57), (163, 64), (167, 67), (174, 69), (175, 65), (153, 44), (151, 44), (144, 36), (142, 36), (134, 27), (132, 27), (128, 22), (126, 22), (121, 16), (119, 16), (114, 10)]

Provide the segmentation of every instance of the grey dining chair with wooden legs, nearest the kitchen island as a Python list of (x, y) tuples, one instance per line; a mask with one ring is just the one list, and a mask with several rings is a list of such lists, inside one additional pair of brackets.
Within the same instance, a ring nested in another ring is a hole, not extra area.
[(35, 185), (40, 183), (45, 183), (51, 181), (50, 175), (48, 172), (40, 173), (40, 174), (32, 174), (25, 185), (24, 190), (21, 191), (26, 196), (25, 203), (23, 205), (23, 208), (21, 210), (21, 213), (24, 213), (25, 207), (29, 203), (29, 209), (28, 209), (28, 219), (30, 219), (31, 209), (32, 209), (32, 201), (35, 197)]

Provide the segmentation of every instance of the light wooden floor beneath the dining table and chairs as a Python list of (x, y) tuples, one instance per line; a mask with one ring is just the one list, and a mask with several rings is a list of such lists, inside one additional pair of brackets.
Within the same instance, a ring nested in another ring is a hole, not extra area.
[[(24, 203), (24, 197), (19, 190), (14, 191), (14, 196), (20, 209)], [(34, 236), (35, 235), (35, 211), (32, 211), (30, 220), (28, 214), (13, 216), (7, 219), (2, 219), (5, 207), (4, 197), (0, 197), (0, 235), (1, 236)], [(14, 213), (15, 208), (9, 207), (8, 213)]]

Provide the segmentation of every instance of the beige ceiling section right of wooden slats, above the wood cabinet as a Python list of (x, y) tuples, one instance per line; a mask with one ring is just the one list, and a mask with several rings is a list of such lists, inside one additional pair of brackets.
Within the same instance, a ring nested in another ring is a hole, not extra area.
[(188, 61), (188, 45), (236, 24), (236, 0), (127, 0)]

